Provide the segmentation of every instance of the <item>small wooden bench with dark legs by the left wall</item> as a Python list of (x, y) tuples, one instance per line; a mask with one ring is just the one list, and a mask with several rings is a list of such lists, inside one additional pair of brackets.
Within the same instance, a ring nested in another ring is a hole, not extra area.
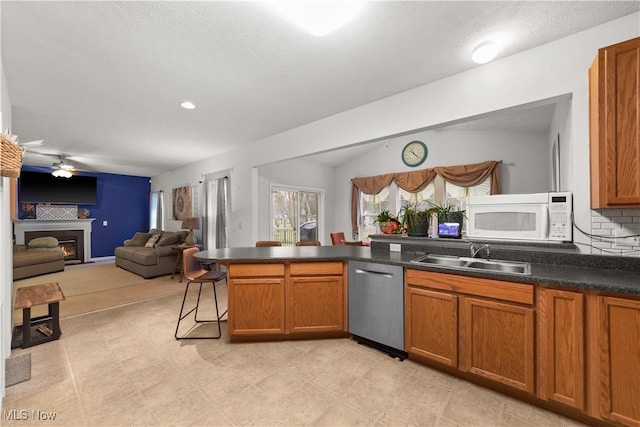
[[(27, 348), (60, 338), (60, 301), (64, 294), (57, 282), (24, 286), (16, 291), (15, 309), (22, 309), (22, 325), (13, 329), (11, 348)], [(31, 307), (48, 304), (48, 314), (31, 318)]]

